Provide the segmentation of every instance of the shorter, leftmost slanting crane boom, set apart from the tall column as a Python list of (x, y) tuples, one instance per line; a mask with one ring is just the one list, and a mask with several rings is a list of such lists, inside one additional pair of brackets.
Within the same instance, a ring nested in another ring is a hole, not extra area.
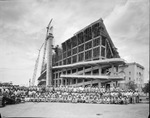
[(41, 48), (38, 50), (39, 53), (38, 53), (38, 57), (36, 59), (36, 62), (35, 62), (35, 67), (34, 67), (34, 72), (33, 72), (33, 77), (32, 77), (32, 86), (35, 85), (35, 79), (36, 79), (36, 74), (37, 74), (37, 68), (38, 68), (38, 63), (39, 63), (39, 58), (40, 58), (40, 51), (43, 47), (44, 43), (42, 44)]

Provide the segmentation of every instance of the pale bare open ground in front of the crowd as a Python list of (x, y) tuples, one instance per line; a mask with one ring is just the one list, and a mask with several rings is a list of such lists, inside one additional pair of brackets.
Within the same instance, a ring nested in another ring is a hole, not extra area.
[(148, 118), (149, 104), (21, 103), (0, 108), (2, 117)]

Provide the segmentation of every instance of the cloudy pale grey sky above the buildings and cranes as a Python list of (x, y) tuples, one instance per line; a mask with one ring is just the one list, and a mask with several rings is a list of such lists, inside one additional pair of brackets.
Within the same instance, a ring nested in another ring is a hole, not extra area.
[(0, 0), (0, 82), (29, 84), (51, 18), (54, 45), (102, 18), (121, 58), (144, 66), (147, 82), (149, 15), (149, 0)]

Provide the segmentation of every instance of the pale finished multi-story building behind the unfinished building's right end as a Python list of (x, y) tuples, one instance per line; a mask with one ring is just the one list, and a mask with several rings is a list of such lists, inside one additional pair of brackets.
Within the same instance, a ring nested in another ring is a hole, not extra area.
[(137, 85), (139, 91), (142, 90), (144, 85), (144, 67), (138, 63), (126, 63), (119, 67), (119, 71), (124, 72), (124, 81), (119, 82), (120, 86), (127, 88), (126, 84), (133, 81)]

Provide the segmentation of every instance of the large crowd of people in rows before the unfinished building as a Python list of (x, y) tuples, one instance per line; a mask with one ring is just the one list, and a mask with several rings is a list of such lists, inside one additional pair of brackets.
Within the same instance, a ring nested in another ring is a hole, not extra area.
[(49, 88), (0, 88), (0, 95), (20, 102), (63, 102), (95, 104), (134, 104), (139, 102), (138, 91), (104, 87), (60, 86)]

